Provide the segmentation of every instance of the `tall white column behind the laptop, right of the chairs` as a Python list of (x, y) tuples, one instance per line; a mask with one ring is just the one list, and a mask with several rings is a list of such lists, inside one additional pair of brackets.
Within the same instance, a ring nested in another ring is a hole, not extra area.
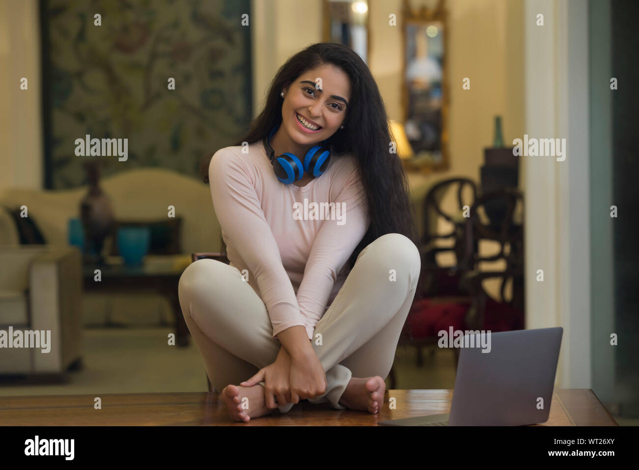
[[(544, 26), (537, 26), (537, 15)], [(566, 159), (526, 167), (526, 322), (564, 327), (557, 386), (590, 387), (587, 3), (525, 0), (525, 133), (565, 138)], [(537, 281), (543, 269), (544, 281)]]

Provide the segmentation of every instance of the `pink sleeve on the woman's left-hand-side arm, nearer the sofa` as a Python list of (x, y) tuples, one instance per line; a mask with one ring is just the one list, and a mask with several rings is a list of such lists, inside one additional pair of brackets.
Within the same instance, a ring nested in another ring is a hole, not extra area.
[(233, 240), (241, 253), (250, 275), (255, 276), (273, 325), (273, 338), (291, 327), (304, 330), (291, 279), (259, 203), (252, 173), (242, 157), (228, 149), (218, 150), (211, 158), (208, 177), (215, 215), (227, 239)]

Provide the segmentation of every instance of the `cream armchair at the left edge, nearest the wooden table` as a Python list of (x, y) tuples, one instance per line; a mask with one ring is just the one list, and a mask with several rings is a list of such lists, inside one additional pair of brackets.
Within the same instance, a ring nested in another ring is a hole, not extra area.
[(0, 374), (58, 374), (79, 364), (81, 296), (77, 247), (0, 246)]

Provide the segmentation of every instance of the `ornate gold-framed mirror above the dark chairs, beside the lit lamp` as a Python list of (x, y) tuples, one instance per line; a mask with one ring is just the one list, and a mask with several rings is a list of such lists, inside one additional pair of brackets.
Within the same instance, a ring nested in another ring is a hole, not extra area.
[(450, 166), (445, 1), (403, 0), (403, 18), (403, 127), (413, 150), (408, 166), (443, 171)]

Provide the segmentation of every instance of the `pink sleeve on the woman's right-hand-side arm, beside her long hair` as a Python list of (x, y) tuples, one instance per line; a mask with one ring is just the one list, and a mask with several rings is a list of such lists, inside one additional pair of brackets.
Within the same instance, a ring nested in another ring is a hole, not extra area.
[(335, 210), (344, 208), (344, 212), (336, 212), (344, 217), (343, 224), (338, 224), (337, 216), (335, 220), (323, 221), (297, 290), (297, 303), (311, 339), (315, 325), (324, 314), (337, 274), (348, 262), (371, 224), (366, 192), (357, 168), (354, 165), (348, 168), (351, 168), (351, 172), (335, 198)]

